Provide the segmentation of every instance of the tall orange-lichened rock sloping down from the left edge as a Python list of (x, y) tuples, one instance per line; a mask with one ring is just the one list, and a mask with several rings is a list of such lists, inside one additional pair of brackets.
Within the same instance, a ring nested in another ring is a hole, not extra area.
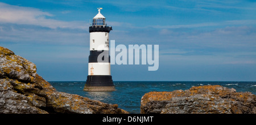
[(0, 113), (128, 113), (76, 94), (57, 92), (34, 63), (0, 46)]

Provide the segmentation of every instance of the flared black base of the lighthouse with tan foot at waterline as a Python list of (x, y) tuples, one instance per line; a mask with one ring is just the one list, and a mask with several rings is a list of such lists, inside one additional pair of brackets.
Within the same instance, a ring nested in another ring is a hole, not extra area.
[(100, 92), (100, 91), (114, 91), (111, 75), (88, 75), (84, 86), (85, 91)]

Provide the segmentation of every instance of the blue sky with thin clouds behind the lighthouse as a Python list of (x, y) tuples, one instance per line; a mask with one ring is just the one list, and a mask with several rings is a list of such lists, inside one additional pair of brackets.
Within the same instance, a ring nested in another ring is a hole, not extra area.
[(89, 20), (115, 44), (159, 45), (159, 69), (111, 65), (114, 81), (256, 81), (256, 1), (0, 0), (0, 46), (48, 81), (85, 81)]

